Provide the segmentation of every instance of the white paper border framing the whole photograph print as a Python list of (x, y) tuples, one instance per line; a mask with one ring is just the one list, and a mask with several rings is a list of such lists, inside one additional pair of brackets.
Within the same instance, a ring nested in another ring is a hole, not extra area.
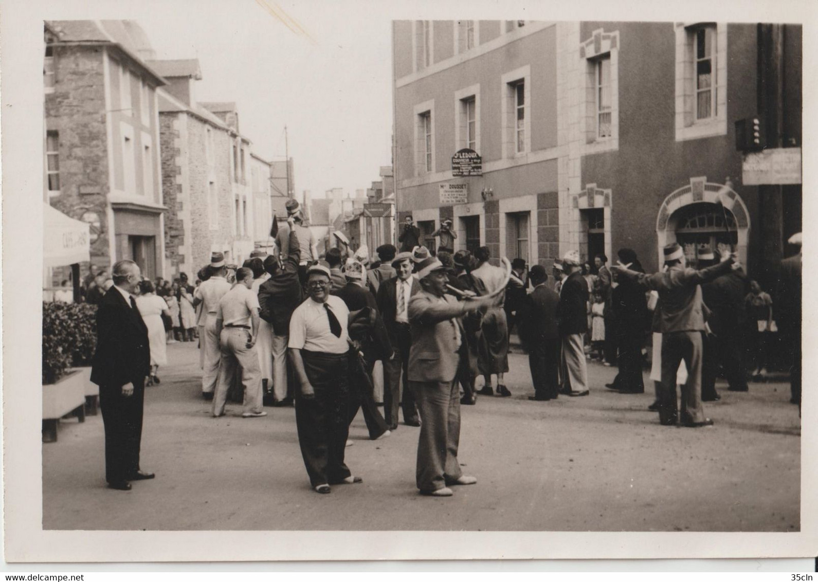
[[(462, 2), (364, 2), (349, 4), (351, 20), (388, 15), (393, 19), (455, 20)], [(213, 4), (216, 2), (212, 2)], [(308, 11), (319, 0), (279, 2), (308, 24)], [(227, 0), (225, 0), (227, 4)], [(803, 95), (816, 93), (818, 3), (808, 0), (718, 3), (628, 2), (503, 2), (472, 0), (468, 15), (504, 20), (708, 20), (775, 21), (804, 26)], [(167, 2), (121, 0), (28, 0), (2, 2), (2, 316), (3, 316), (3, 481), (5, 485), (5, 559), (7, 562), (196, 562), (258, 560), (459, 560), (502, 558), (658, 558), (658, 557), (810, 557), (818, 554), (816, 528), (816, 392), (808, 378), (818, 378), (818, 359), (808, 354), (818, 346), (816, 309), (804, 307), (803, 377), (807, 378), (802, 416), (801, 531), (797, 533), (687, 532), (235, 532), (235, 531), (43, 531), (42, 453), (40, 428), (39, 325), (40, 295), (32, 292), (42, 276), (43, 156), (43, 20), (138, 20), (142, 11), (164, 9)], [(259, 7), (259, 10), (261, 8)], [(272, 25), (273, 23), (271, 23)], [(317, 97), (318, 98), (318, 97)], [(388, 98), (388, 96), (384, 96)], [(816, 112), (804, 102), (803, 152), (815, 150)], [(803, 216), (816, 217), (816, 171), (804, 164)], [(34, 195), (26, 193), (34, 192)], [(811, 232), (804, 237), (804, 272), (816, 272)], [(815, 297), (815, 279), (804, 279), (804, 296)], [(99, 451), (102, 454), (102, 451)], [(487, 552), (490, 555), (487, 555)]]

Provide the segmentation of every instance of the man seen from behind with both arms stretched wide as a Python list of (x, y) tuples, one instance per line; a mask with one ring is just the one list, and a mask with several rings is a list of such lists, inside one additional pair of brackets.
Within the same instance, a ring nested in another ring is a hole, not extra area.
[[(685, 253), (678, 243), (664, 248), (667, 271), (645, 275), (615, 265), (621, 275), (637, 280), (643, 287), (658, 291), (656, 309), (658, 331), (662, 334), (662, 382), (658, 394), (659, 422), (696, 428), (713, 423), (702, 408), (702, 332), (704, 316), (701, 284), (730, 272), (735, 253), (721, 252), (722, 261), (696, 271), (686, 266)], [(681, 412), (676, 402), (676, 370), (681, 360), (687, 366), (687, 382), (681, 387)]]

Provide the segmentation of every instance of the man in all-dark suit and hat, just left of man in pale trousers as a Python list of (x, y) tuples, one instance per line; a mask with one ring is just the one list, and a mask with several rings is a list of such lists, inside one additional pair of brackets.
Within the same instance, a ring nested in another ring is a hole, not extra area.
[(560, 295), (546, 284), (548, 274), (542, 265), (531, 267), (534, 290), (519, 304), (519, 334), (528, 344), (528, 366), (534, 385), (532, 401), (548, 401), (560, 392), (560, 329), (557, 307)]

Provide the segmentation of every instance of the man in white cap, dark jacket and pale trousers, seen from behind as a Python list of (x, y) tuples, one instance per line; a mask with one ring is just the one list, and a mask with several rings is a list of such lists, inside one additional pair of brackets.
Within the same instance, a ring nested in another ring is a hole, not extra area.
[(582, 277), (578, 251), (565, 254), (563, 269), (568, 277), (560, 290), (558, 308), (563, 351), (562, 392), (569, 396), (587, 396), (588, 371), (582, 336), (588, 331), (588, 284)]

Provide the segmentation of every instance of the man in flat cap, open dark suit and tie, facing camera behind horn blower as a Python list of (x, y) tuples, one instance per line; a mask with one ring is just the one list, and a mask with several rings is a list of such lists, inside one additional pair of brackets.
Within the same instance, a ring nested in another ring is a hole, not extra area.
[[(392, 262), (398, 276), (384, 281), (378, 289), (378, 311), (384, 320), (389, 343), (395, 350), (391, 360), (384, 360), (384, 419), (390, 430), (398, 428), (398, 402), (402, 402), (403, 422), (419, 427), (415, 396), (409, 387), (409, 298), (420, 293), (420, 284), (411, 275), (411, 253), (400, 253)], [(400, 285), (400, 287), (398, 287)], [(400, 398), (400, 379), (403, 372), (403, 398)]]

